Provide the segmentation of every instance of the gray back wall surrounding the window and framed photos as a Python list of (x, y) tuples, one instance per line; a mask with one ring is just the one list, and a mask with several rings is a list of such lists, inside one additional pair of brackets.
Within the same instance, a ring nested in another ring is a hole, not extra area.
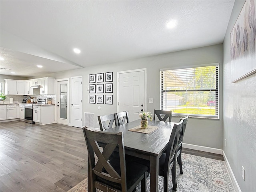
[[(223, 45), (218, 44), (214, 46), (207, 46), (203, 48), (196, 48), (173, 52), (168, 54), (161, 54), (157, 56), (150, 56), (145, 58), (138, 58), (124, 62), (116, 62), (112, 64), (105, 64), (99, 66), (86, 67), (84, 69), (59, 72), (48, 74), (49, 77), (70, 78), (72, 76), (83, 76), (83, 112), (94, 112), (95, 117), (104, 114), (115, 113), (117, 110), (116, 94), (117, 94), (117, 72), (124, 70), (133, 70), (139, 68), (147, 68), (147, 101), (148, 98), (154, 98), (154, 103), (147, 103), (147, 111), (153, 112), (154, 109), (160, 109), (160, 69), (172, 67), (193, 67), (202, 64), (219, 63), (220, 64), (220, 119), (199, 119), (190, 118), (184, 142), (188, 144), (195, 144), (200, 146), (207, 146), (212, 148), (222, 149), (223, 141), (223, 120), (222, 120), (222, 65), (223, 65)], [(88, 95), (86, 91), (89, 84), (89, 74), (97, 74), (101, 72), (114, 72), (113, 82), (113, 105), (99, 105), (89, 104)], [(71, 86), (71, 85), (70, 85)], [(71, 87), (70, 87), (71, 90)], [(101, 106), (101, 110), (98, 110)], [(173, 118), (173, 121), (178, 122), (179, 118)], [(95, 127), (99, 127), (96, 123)]]

